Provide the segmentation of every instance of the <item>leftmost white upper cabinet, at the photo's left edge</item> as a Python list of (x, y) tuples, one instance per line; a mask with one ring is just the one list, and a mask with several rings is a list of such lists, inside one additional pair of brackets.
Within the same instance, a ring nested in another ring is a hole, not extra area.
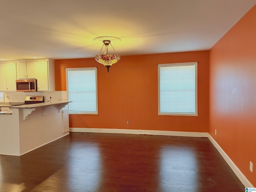
[(16, 91), (16, 63), (0, 63), (0, 90)]

